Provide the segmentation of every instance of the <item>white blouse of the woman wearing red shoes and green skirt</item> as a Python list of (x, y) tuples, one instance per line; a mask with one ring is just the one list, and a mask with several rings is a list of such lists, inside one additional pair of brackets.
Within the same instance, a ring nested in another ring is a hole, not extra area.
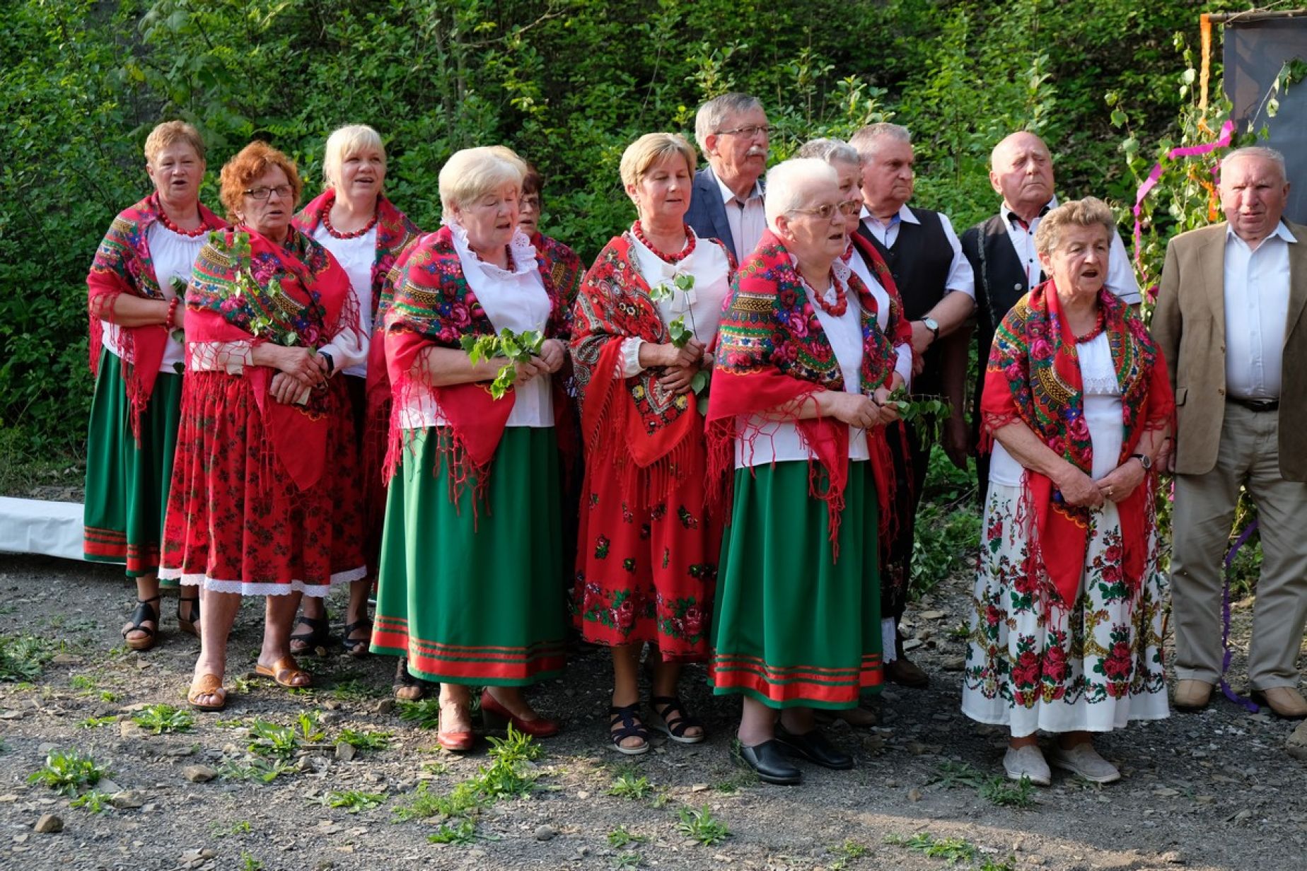
[[(536, 249), (523, 232), (516, 232), (510, 243), (512, 269), (501, 269), (488, 264), (473, 253), (468, 245), (467, 231), (456, 223), (450, 223), (454, 231), (454, 247), (459, 252), (459, 265), (468, 279), (468, 287), (477, 295), (477, 302), (490, 319), (490, 325), (498, 333), (511, 329), (514, 333), (527, 330), (545, 332), (552, 308), (545, 282), (536, 266)], [(510, 427), (554, 426), (554, 394), (550, 390), (549, 375), (537, 375), (515, 388), (512, 410), (508, 413)], [(429, 390), (414, 390), (413, 398), (400, 413), (400, 426), (405, 430), (447, 426), (448, 420)]]

